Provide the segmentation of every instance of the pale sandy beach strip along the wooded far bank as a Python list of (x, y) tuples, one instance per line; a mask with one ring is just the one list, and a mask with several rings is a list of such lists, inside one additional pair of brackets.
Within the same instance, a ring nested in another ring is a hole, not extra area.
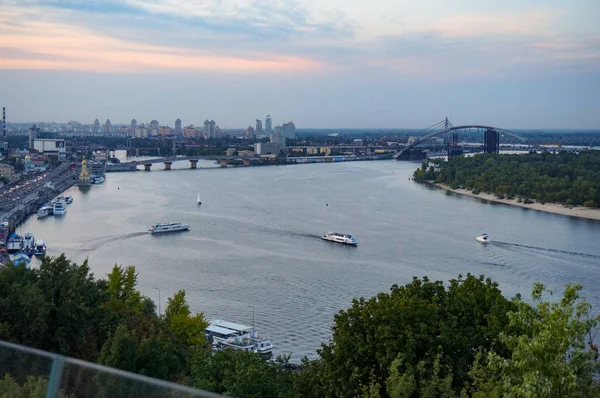
[[(433, 184), (433, 183), (431, 183), (431, 184)], [(468, 189), (452, 189), (449, 186), (444, 185), (444, 184), (433, 184), (433, 185), (435, 185), (438, 188), (445, 189), (446, 191), (450, 191), (450, 192), (453, 192), (458, 195), (466, 195), (466, 196), (470, 196), (473, 198), (487, 200), (489, 202), (503, 203), (503, 204), (511, 205), (511, 206), (519, 206), (519, 207), (522, 207), (525, 209), (545, 211), (546, 213), (561, 214), (563, 216), (587, 218), (589, 220), (600, 221), (600, 209), (596, 209), (596, 208), (588, 208), (588, 207), (580, 207), (580, 206), (567, 207), (567, 206), (563, 206), (563, 205), (557, 204), (557, 203), (541, 204), (541, 203), (537, 203), (535, 201), (534, 201), (534, 203), (525, 204), (525, 203), (517, 202), (516, 199), (510, 199), (510, 200), (509, 199), (499, 199), (496, 196), (489, 194), (489, 193), (474, 194), (472, 191), (470, 191)]]

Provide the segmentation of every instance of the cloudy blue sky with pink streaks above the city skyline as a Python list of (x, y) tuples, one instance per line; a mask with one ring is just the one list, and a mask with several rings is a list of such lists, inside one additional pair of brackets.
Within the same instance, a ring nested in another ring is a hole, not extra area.
[(8, 122), (600, 128), (598, 0), (0, 0)]

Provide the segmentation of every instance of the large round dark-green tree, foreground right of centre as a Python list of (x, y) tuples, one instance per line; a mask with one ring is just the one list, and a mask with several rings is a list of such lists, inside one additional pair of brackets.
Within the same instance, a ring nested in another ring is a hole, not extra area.
[(333, 339), (320, 350), (329, 384), (320, 392), (356, 396), (378, 386), (385, 396), (393, 369), (410, 373), (415, 386), (439, 380), (443, 387), (451, 380), (459, 393), (478, 351), (506, 351), (496, 338), (514, 305), (496, 283), (472, 275), (452, 280), (447, 289), (441, 281), (414, 278), (389, 294), (354, 300), (334, 317)]

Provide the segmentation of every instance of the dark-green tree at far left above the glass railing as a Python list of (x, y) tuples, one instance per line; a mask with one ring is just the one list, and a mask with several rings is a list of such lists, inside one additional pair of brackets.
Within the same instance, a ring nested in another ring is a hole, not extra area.
[(47, 256), (39, 269), (7, 267), (0, 272), (0, 338), (93, 361), (106, 338), (104, 299), (87, 261)]

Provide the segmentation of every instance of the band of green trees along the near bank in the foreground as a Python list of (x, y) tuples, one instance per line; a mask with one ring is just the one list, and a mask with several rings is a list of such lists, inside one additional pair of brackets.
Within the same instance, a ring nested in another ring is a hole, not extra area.
[[(191, 314), (185, 292), (157, 316), (136, 278), (133, 267), (115, 266), (96, 280), (87, 262), (64, 256), (44, 258), (39, 269), (3, 269), (0, 339), (235, 397), (600, 395), (598, 318), (579, 285), (558, 301), (535, 285), (530, 305), (484, 277), (414, 278), (354, 300), (335, 315), (319, 357), (292, 371), (287, 358), (211, 354), (204, 317)], [(0, 352), (0, 398), (44, 396), (48, 371)], [(171, 396), (83, 370), (67, 372), (61, 387), (61, 397)]]

